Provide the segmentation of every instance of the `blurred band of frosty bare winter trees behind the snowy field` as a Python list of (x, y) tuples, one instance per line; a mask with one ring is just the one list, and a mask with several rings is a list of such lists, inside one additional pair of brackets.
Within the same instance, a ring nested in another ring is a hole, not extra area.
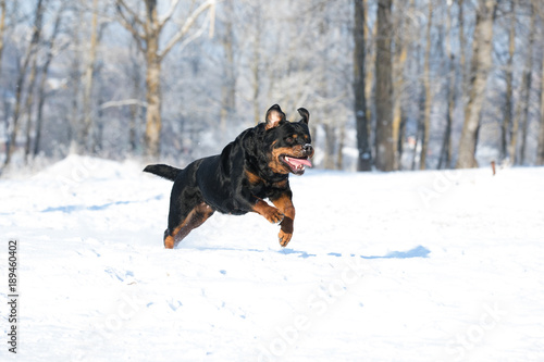
[(0, 164), (215, 153), (273, 103), (323, 168), (544, 164), (539, 0), (0, 0)]

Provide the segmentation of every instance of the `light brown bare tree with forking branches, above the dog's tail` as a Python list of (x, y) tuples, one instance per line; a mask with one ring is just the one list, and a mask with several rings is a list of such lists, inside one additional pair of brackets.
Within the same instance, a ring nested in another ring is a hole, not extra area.
[(169, 24), (172, 16), (177, 11), (180, 0), (172, 0), (170, 8), (163, 16), (158, 13), (158, 0), (145, 0), (145, 15), (138, 13), (134, 7), (125, 0), (116, 0), (116, 10), (120, 23), (132, 34), (138, 49), (146, 59), (146, 154), (150, 158), (160, 155), (161, 137), (161, 63), (172, 48), (182, 42), (187, 45), (193, 41), (199, 33), (189, 35), (199, 16), (210, 7), (215, 4), (215, 0), (202, 2), (196, 9), (191, 9), (183, 25), (160, 49), (160, 36), (164, 26)]

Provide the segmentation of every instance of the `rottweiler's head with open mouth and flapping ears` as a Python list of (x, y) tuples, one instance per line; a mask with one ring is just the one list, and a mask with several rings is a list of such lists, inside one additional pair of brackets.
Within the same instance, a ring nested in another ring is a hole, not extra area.
[(309, 159), (313, 157), (313, 147), (308, 128), (310, 113), (304, 108), (299, 108), (298, 113), (302, 118), (289, 122), (277, 104), (267, 112), (263, 141), (269, 151), (268, 165), (276, 174), (301, 175), (306, 166), (311, 167)]

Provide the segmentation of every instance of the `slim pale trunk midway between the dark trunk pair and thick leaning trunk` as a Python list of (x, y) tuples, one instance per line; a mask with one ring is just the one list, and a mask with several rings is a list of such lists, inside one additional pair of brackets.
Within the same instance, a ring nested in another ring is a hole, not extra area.
[(423, 137), (421, 142), (421, 159), (419, 170), (426, 168), (426, 153), (429, 152), (429, 138), (431, 130), (431, 109), (432, 109), (432, 93), (431, 93), (431, 28), (433, 25), (433, 2), (429, 1), (429, 16), (426, 23), (426, 45), (425, 45), (425, 60), (423, 65), (423, 88), (425, 91), (425, 109), (423, 121)]

